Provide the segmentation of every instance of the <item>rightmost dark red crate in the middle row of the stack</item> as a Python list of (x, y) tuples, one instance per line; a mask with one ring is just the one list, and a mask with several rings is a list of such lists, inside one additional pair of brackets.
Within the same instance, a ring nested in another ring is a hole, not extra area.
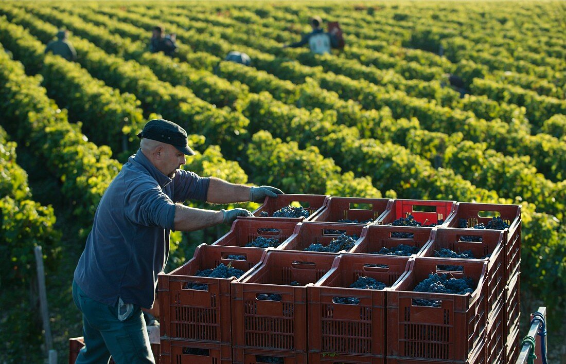
[[(460, 241), (462, 236), (481, 237), (481, 242)], [(503, 301), (505, 290), (503, 231), (478, 229), (438, 228), (431, 232), (431, 239), (424, 248), (424, 257), (434, 257), (441, 248), (448, 248), (456, 253), (471, 250), (475, 257), (491, 254), (487, 261), (485, 282), (487, 284), (487, 312)]]

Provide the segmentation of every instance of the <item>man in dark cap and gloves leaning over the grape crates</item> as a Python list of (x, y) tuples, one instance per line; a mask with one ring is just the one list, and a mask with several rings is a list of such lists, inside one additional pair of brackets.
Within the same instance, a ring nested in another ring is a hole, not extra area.
[(102, 195), (92, 231), (75, 269), (72, 297), (83, 313), (86, 346), (77, 364), (154, 363), (141, 307), (155, 302), (157, 274), (169, 255), (171, 230), (195, 231), (231, 224), (245, 209), (203, 210), (186, 200), (211, 203), (262, 202), (282, 193), (275, 187), (249, 187), (181, 168), (194, 155), (187, 133), (168, 120), (151, 120), (140, 149)]

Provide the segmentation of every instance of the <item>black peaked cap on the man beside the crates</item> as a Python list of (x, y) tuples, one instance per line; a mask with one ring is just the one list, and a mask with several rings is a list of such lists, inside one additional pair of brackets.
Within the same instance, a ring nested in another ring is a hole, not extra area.
[(173, 145), (186, 155), (195, 155), (188, 146), (187, 132), (179, 125), (164, 119), (149, 120), (138, 134), (138, 138), (148, 138)]

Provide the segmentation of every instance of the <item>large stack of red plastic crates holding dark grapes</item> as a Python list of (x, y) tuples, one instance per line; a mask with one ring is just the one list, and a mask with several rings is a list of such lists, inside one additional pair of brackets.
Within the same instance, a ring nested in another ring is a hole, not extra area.
[[(310, 215), (272, 217), (294, 201), (308, 205)], [(418, 226), (397, 226), (409, 216)], [(472, 228), (491, 216), (501, 216), (510, 227)], [(470, 228), (460, 228), (461, 219)], [(305, 250), (328, 245), (341, 234), (354, 237), (353, 248)], [(254, 217), (237, 219), (213, 245), (199, 246), (185, 265), (159, 276), (161, 362), (513, 362), (520, 235), (521, 210), (515, 205), (267, 198)], [(246, 246), (258, 237), (275, 242), (269, 248)], [(405, 256), (392, 249), (400, 244), (408, 249)], [(384, 248), (395, 253), (377, 254)], [(474, 259), (437, 257), (443, 248), (471, 250)], [(238, 279), (195, 276), (220, 263), (245, 273)], [(413, 291), (435, 273), (471, 278), (472, 292)], [(350, 288), (362, 277), (387, 287)], [(207, 288), (191, 289), (192, 283)], [(434, 300), (436, 306), (422, 306), (421, 300)]]

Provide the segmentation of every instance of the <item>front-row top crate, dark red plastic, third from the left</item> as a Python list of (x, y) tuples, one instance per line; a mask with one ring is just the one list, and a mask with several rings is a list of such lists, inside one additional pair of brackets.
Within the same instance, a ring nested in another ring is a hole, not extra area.
[[(314, 287), (307, 288), (309, 354), (318, 356), (319, 362), (321, 356), (331, 353), (354, 354), (353, 358), (368, 362), (372, 356), (380, 356), (383, 361), (387, 288), (370, 290), (349, 286), (359, 277), (367, 276), (391, 287), (409, 270), (409, 261), (407, 257), (370, 254), (341, 254), (336, 258), (331, 270)], [(355, 297), (359, 304), (337, 304), (334, 297)]]

